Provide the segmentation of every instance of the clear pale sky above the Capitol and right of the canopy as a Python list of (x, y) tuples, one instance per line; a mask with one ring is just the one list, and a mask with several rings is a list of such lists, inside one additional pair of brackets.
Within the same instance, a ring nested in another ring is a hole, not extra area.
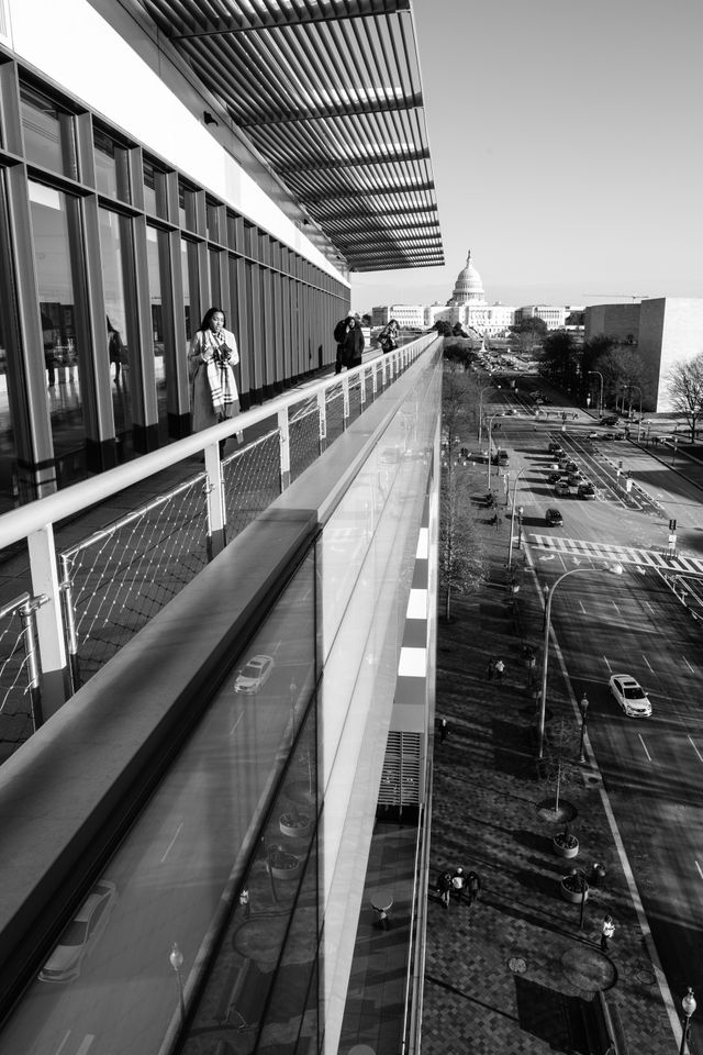
[[(701, 0), (414, 0), (444, 267), (352, 306), (703, 297)], [(603, 295), (610, 293), (611, 297)]]

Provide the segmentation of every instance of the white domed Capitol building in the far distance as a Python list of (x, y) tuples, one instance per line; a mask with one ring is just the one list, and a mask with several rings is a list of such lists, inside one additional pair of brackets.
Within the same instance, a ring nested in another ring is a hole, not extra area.
[(389, 304), (373, 308), (371, 324), (383, 326), (390, 319), (395, 319), (401, 326), (428, 330), (438, 319), (444, 319), (451, 325), (460, 323), (468, 333), (480, 337), (495, 337), (505, 334), (509, 326), (532, 318), (543, 319), (548, 330), (560, 330), (572, 311), (583, 311), (583, 308), (548, 304), (513, 308), (498, 301), (489, 304), (481, 276), (469, 249), (466, 264), (457, 275), (451, 297), (445, 304)]

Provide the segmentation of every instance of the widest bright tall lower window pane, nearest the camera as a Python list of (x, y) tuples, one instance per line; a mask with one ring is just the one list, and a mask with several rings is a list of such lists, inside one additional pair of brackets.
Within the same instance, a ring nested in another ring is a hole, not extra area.
[(86, 440), (69, 238), (69, 224), (78, 221), (75, 203), (63, 191), (32, 180), (29, 189), (42, 318), (37, 368), (42, 362), (46, 370), (54, 452), (60, 457)]

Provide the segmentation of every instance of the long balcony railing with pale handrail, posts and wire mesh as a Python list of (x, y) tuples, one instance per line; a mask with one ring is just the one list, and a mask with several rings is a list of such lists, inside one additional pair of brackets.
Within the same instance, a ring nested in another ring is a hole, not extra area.
[[(40, 654), (49, 657), (53, 671), (56, 663), (63, 669), (57, 657), (68, 655), (75, 691), (436, 340), (426, 334), (312, 389), (247, 411), (237, 424), (254, 433), (260, 427), (263, 434), (227, 458), (217, 457), (225, 432), (215, 426), (78, 485), (70, 496), (57, 492), (0, 518), (0, 546), (16, 549), (21, 538), (32, 540), (32, 581), (58, 582), (56, 596), (53, 588), (44, 598), (51, 619), (37, 623), (42, 601), (29, 593), (20, 599), (24, 609), (18, 603), (0, 610), (0, 760), (3, 744), (7, 755), (41, 723)], [(203, 452), (207, 471), (192, 475), (188, 459)], [(187, 477), (168, 492), (56, 552), (55, 523), (171, 467), (177, 478)], [(53, 699), (52, 709), (56, 706)]]

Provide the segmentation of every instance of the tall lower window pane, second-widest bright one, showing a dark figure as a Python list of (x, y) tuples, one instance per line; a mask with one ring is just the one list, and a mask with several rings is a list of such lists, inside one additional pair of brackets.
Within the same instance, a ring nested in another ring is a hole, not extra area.
[(124, 296), (123, 232), (129, 221), (108, 209), (100, 209), (100, 263), (105, 298), (105, 351), (112, 386), (115, 435), (125, 437), (132, 431), (131, 352), (127, 345), (126, 304)]

